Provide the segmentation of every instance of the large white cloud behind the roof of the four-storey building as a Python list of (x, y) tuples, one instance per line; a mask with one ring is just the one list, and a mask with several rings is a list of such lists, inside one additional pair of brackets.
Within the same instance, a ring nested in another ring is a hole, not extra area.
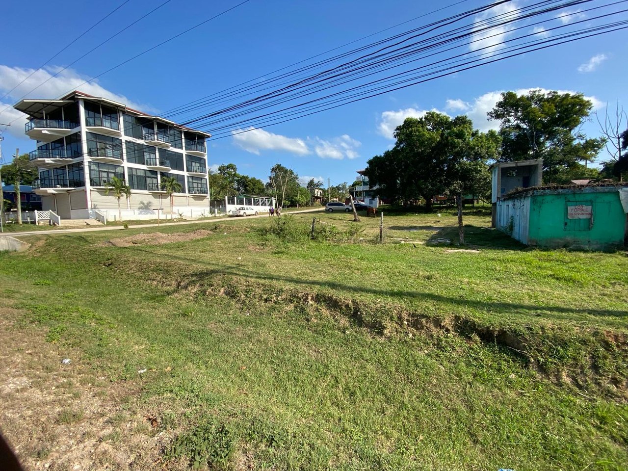
[[(62, 67), (58, 66), (33, 69), (0, 65), (0, 94), (4, 95), (8, 93), (8, 96), (4, 98), (3, 102), (0, 102), (0, 122), (7, 123), (16, 119), (16, 121), (11, 124), (11, 127), (7, 128), (9, 133), (14, 134), (14, 136), (18, 138), (24, 138), (26, 115), (13, 108), (14, 102), (17, 102), (24, 95), (26, 95), (26, 98), (33, 99), (53, 99), (60, 98), (62, 95), (78, 89), (89, 95), (121, 102), (131, 108), (144, 112), (156, 111), (152, 107), (135, 103), (124, 95), (116, 94), (101, 87), (97, 81), (84, 84), (85, 80), (89, 77), (85, 77), (71, 68), (63, 70), (59, 75), (53, 77), (53, 75), (61, 69)], [(31, 73), (33, 73), (32, 77), (28, 77)], [(24, 80), (24, 83), (20, 84), (19, 82), (22, 80)], [(43, 84), (46, 80), (48, 80), (48, 82)], [(43, 85), (38, 87), (40, 84)], [(11, 90), (13, 87), (16, 87), (15, 90)], [(38, 88), (31, 92), (35, 87)], [(11, 90), (11, 92), (9, 92), (9, 90)]]

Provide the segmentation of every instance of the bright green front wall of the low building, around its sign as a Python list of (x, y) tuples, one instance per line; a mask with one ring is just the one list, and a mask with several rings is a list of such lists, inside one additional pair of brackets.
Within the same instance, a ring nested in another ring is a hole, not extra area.
[[(591, 208), (591, 217), (570, 219), (568, 207)], [(605, 249), (624, 244), (626, 214), (616, 188), (584, 188), (531, 197), (530, 245)]]

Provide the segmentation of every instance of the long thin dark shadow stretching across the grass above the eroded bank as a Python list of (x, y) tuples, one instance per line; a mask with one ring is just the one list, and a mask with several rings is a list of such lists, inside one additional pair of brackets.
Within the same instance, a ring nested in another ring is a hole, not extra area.
[[(161, 257), (161, 254), (150, 251), (148, 249), (140, 247), (124, 247), (124, 249), (131, 249), (134, 252), (146, 252), (153, 256)], [(191, 284), (202, 284), (207, 278), (217, 275), (230, 275), (239, 276), (241, 278), (248, 278), (255, 280), (255, 284), (259, 284), (260, 281), (281, 281), (284, 283), (292, 283), (302, 286), (317, 286), (320, 288), (328, 288), (334, 291), (345, 293), (355, 293), (357, 295), (363, 295), (364, 293), (370, 293), (377, 296), (392, 296), (407, 300), (408, 298), (420, 301), (428, 301), (431, 303), (447, 303), (454, 306), (464, 306), (467, 308), (474, 308), (482, 311), (504, 311), (507, 313), (525, 313), (528, 315), (536, 315), (539, 311), (546, 311), (551, 313), (563, 313), (563, 314), (588, 314), (593, 316), (602, 317), (628, 317), (627, 311), (610, 310), (610, 309), (582, 309), (582, 308), (568, 308), (563, 306), (534, 306), (521, 303), (507, 303), (505, 301), (480, 301), (470, 300), (468, 298), (454, 298), (452, 296), (437, 295), (435, 293), (426, 293), (425, 291), (408, 291), (408, 290), (384, 290), (378, 288), (371, 288), (369, 286), (354, 286), (352, 284), (344, 284), (338, 281), (320, 281), (316, 279), (294, 278), (293, 276), (284, 276), (281, 274), (266, 274), (258, 273), (250, 269), (246, 269), (238, 266), (229, 266), (224, 264), (212, 264), (209, 262), (198, 261), (188, 257), (177, 256), (170, 254), (169, 258), (173, 258), (188, 264), (197, 264), (212, 266), (214, 268), (203, 270), (197, 273), (193, 273), (188, 278), (188, 282)]]

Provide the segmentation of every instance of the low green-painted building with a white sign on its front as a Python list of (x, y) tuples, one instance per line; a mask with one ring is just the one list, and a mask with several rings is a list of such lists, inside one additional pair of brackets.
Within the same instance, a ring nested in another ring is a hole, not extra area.
[(539, 247), (628, 245), (628, 184), (526, 188), (497, 201), (499, 230)]

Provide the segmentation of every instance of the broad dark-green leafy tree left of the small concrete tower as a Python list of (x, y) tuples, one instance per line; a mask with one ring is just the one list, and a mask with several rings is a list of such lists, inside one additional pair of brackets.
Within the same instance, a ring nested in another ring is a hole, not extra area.
[(426, 210), (441, 193), (485, 191), (487, 162), (497, 159), (500, 146), (495, 132), (475, 131), (467, 116), (438, 112), (406, 118), (394, 137), (394, 148), (371, 158), (365, 175), (381, 196), (406, 204), (422, 198)]

